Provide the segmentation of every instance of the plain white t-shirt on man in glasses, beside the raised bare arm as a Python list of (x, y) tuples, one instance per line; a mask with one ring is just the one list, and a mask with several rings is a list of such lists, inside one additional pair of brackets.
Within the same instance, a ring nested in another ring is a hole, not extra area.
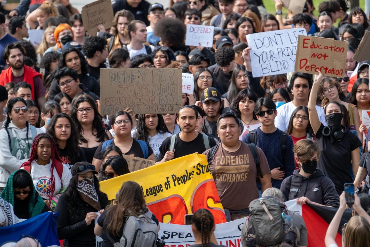
[[(324, 116), (324, 109), (320, 106), (315, 106), (317, 115), (319, 116), (319, 120), (324, 126), (327, 126), (325, 116)], [(293, 111), (297, 107), (293, 104), (293, 101), (290, 101), (286, 104), (283, 104), (277, 109), (277, 116), (275, 118), (275, 127), (279, 128), (279, 130), (287, 131), (289, 127), (289, 120), (290, 116), (292, 116)]]

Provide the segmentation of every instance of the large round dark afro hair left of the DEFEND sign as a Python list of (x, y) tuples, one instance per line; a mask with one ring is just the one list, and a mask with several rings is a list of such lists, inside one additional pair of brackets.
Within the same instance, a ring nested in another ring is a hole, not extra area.
[(155, 36), (161, 38), (166, 46), (179, 46), (184, 44), (186, 27), (181, 20), (175, 18), (163, 18), (155, 25)]

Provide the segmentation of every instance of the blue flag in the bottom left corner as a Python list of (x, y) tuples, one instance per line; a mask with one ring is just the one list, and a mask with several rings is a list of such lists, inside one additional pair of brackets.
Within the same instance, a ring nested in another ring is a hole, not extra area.
[(58, 213), (45, 212), (13, 226), (0, 227), (0, 245), (7, 241), (18, 241), (24, 235), (35, 237), (42, 247), (60, 246), (56, 219)]

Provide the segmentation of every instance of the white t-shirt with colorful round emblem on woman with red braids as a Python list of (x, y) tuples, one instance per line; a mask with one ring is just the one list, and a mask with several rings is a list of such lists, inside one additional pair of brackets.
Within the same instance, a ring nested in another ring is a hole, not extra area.
[[(33, 180), (33, 184), (38, 194), (44, 199), (48, 199), (47, 192), (50, 190), (49, 188), (49, 181), (51, 177), (50, 166), (51, 166), (51, 159), (50, 159), (50, 163), (45, 166), (37, 164), (36, 161), (31, 162), (31, 177)], [(59, 191), (62, 188), (62, 183), (58, 176), (57, 169), (55, 167), (54, 167), (53, 175), (55, 178), (55, 190), (54, 190), (53, 196), (55, 196), (56, 194), (59, 193)], [(67, 188), (71, 177), (72, 177), (71, 171), (65, 164), (63, 164), (62, 180), (63, 180), (64, 188)]]

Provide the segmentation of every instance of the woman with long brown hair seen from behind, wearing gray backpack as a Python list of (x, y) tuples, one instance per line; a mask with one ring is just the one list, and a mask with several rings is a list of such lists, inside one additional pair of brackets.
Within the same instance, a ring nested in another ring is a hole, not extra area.
[(139, 184), (134, 181), (124, 182), (116, 196), (116, 204), (108, 206), (95, 225), (94, 233), (103, 239), (101, 246), (113, 247), (110, 238), (115, 243), (119, 242), (127, 218), (141, 214), (150, 217), (152, 223), (157, 224), (159, 231), (158, 220), (145, 204), (144, 193)]

